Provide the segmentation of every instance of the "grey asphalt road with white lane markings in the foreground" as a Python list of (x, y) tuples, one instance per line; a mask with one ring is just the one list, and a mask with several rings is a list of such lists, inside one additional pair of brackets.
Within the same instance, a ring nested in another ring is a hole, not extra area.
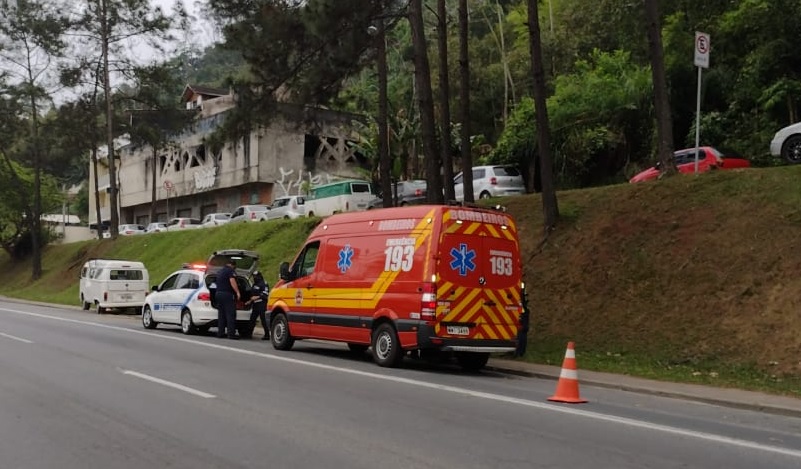
[(798, 468), (801, 419), (0, 306), (0, 469)]

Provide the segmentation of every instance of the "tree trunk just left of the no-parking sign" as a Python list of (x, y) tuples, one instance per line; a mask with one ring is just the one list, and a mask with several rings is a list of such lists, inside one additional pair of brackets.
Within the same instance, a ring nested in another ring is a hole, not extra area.
[(673, 120), (670, 115), (670, 98), (662, 52), (662, 26), (659, 20), (658, 0), (645, 0), (645, 21), (648, 30), (648, 49), (651, 56), (651, 75), (654, 82), (659, 161), (662, 162), (662, 174), (670, 174), (676, 172), (676, 165), (673, 161)]

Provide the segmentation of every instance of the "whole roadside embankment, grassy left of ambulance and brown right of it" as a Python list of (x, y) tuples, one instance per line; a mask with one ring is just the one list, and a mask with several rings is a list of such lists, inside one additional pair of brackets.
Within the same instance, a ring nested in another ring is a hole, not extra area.
[[(503, 199), (520, 225), (532, 328), (526, 360), (801, 396), (801, 167), (714, 172), (559, 194), (541, 243), (540, 198)], [(267, 278), (313, 220), (49, 247), (44, 277), (1, 260), (0, 293), (78, 304), (90, 257), (139, 259), (157, 283), (222, 248), (263, 256)]]

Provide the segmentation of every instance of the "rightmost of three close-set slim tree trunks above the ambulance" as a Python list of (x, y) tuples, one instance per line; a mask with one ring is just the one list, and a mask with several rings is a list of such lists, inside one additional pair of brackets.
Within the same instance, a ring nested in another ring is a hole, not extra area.
[(467, 0), (459, 0), (459, 113), (462, 121), (461, 156), (462, 181), (465, 202), (474, 202), (473, 194), (473, 149), (470, 144), (470, 55), (468, 51)]

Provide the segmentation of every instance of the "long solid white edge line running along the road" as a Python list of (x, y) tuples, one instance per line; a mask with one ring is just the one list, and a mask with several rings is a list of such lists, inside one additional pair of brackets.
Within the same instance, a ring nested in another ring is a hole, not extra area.
[(671, 426), (668, 426), (668, 425), (660, 425), (660, 424), (655, 424), (655, 423), (649, 423), (649, 422), (644, 422), (644, 421), (641, 421), (641, 420), (630, 419), (630, 418), (627, 418), (627, 417), (617, 417), (617, 416), (614, 416), (614, 415), (601, 414), (601, 413), (593, 412), (593, 411), (586, 411), (586, 410), (579, 410), (579, 409), (576, 409), (576, 408), (563, 407), (563, 406), (561, 406), (559, 404), (551, 404), (551, 403), (530, 401), (530, 400), (520, 399), (520, 398), (516, 398), (516, 397), (503, 396), (501, 394), (492, 394), (492, 393), (487, 393), (487, 392), (474, 391), (472, 389), (459, 388), (459, 387), (456, 387), (456, 386), (448, 386), (448, 385), (445, 385), (445, 384), (431, 383), (431, 382), (428, 382), (428, 381), (419, 381), (419, 380), (416, 380), (416, 379), (403, 378), (403, 377), (400, 377), (400, 376), (387, 376), (387, 375), (380, 375), (380, 374), (377, 374), (377, 373), (371, 373), (369, 371), (353, 370), (353, 369), (349, 369), (349, 368), (340, 368), (340, 367), (333, 366), (333, 365), (326, 365), (326, 364), (323, 364), (323, 363), (314, 363), (314, 362), (309, 362), (309, 361), (305, 361), (305, 360), (301, 360), (301, 359), (297, 359), (297, 358), (289, 358), (289, 357), (284, 357), (284, 356), (271, 355), (271, 354), (263, 353), (263, 352), (255, 352), (255, 351), (252, 351), (252, 350), (244, 350), (244, 349), (228, 347), (226, 345), (218, 345), (218, 344), (200, 342), (200, 341), (197, 341), (197, 340), (187, 339), (187, 338), (184, 338), (184, 337), (173, 337), (173, 336), (165, 336), (165, 335), (160, 335), (160, 334), (153, 334), (150, 331), (144, 331), (144, 330), (139, 331), (139, 330), (128, 329), (128, 328), (125, 328), (125, 327), (109, 326), (107, 324), (98, 324), (98, 323), (89, 322), (89, 321), (81, 321), (81, 320), (78, 320), (78, 319), (61, 318), (61, 317), (58, 317), (58, 316), (48, 316), (46, 314), (41, 314), (41, 313), (31, 313), (31, 312), (28, 312), (28, 311), (19, 311), (19, 310), (6, 309), (6, 308), (0, 308), (0, 311), (6, 311), (6, 312), (9, 312), (9, 313), (19, 314), (19, 315), (23, 315), (23, 316), (51, 319), (51, 320), (57, 320), (57, 321), (62, 321), (62, 322), (69, 322), (69, 323), (73, 323), (73, 324), (81, 324), (81, 325), (85, 325), (85, 326), (98, 327), (98, 328), (101, 328), (101, 329), (110, 329), (110, 330), (130, 333), (130, 334), (142, 334), (142, 335), (146, 335), (148, 337), (158, 338), (158, 339), (162, 339), (162, 340), (174, 340), (174, 341), (177, 341), (177, 342), (186, 342), (186, 343), (190, 343), (190, 344), (201, 345), (201, 346), (204, 346), (204, 347), (210, 347), (210, 348), (215, 348), (215, 349), (220, 349), (220, 350), (228, 350), (230, 352), (235, 352), (235, 353), (239, 353), (239, 354), (242, 354), (242, 355), (250, 355), (250, 356), (254, 356), (254, 357), (266, 358), (266, 359), (269, 359), (269, 360), (276, 360), (276, 361), (280, 361), (280, 362), (284, 362), (284, 363), (292, 363), (293, 365), (303, 365), (303, 366), (308, 366), (308, 367), (312, 367), (312, 368), (318, 368), (318, 369), (322, 369), (322, 370), (335, 371), (335, 372), (339, 372), (339, 373), (348, 373), (348, 374), (352, 374), (352, 375), (362, 376), (362, 377), (365, 377), (365, 378), (378, 379), (378, 380), (382, 380), (382, 381), (389, 381), (389, 382), (394, 382), (394, 383), (406, 384), (406, 385), (409, 385), (409, 386), (416, 386), (416, 387), (420, 387), (420, 388), (435, 389), (435, 390), (438, 390), (438, 391), (450, 392), (450, 393), (459, 394), (459, 395), (462, 395), (462, 396), (476, 397), (476, 398), (479, 398), (479, 399), (487, 399), (487, 400), (496, 401), (496, 402), (505, 402), (507, 404), (515, 404), (515, 405), (520, 405), (520, 406), (539, 409), (539, 410), (546, 410), (546, 411), (550, 411), (550, 412), (557, 412), (557, 413), (562, 413), (562, 414), (573, 415), (573, 416), (576, 416), (576, 417), (584, 417), (584, 418), (589, 418), (589, 419), (594, 419), (594, 420), (599, 420), (599, 421), (604, 421), (604, 422), (611, 422), (611, 423), (616, 423), (616, 424), (620, 424), (620, 425), (626, 425), (626, 426), (634, 427), (634, 428), (642, 428), (642, 429), (646, 429), (646, 430), (653, 430), (653, 431), (658, 431), (658, 432), (663, 432), (663, 433), (668, 433), (668, 434), (673, 434), (673, 435), (685, 436), (685, 437), (690, 437), (690, 438), (697, 438), (699, 440), (710, 441), (710, 442), (714, 442), (714, 443), (721, 443), (721, 444), (736, 446), (736, 447), (740, 447), (740, 448), (747, 448), (747, 449), (765, 451), (765, 452), (768, 452), (768, 453), (781, 454), (781, 455), (784, 455), (784, 456), (790, 456), (790, 457), (793, 457), (793, 458), (801, 459), (801, 450), (793, 450), (793, 449), (789, 449), (789, 448), (782, 448), (782, 447), (779, 447), (779, 446), (763, 445), (763, 444), (760, 444), (760, 443), (756, 443), (756, 442), (748, 441), (748, 440), (743, 440), (743, 439), (739, 439), (739, 438), (731, 438), (731, 437), (722, 436), (722, 435), (715, 435), (714, 433), (705, 433), (705, 432), (698, 432), (698, 431), (694, 431), (694, 430), (686, 430), (686, 429), (683, 429), (683, 428), (671, 427)]

